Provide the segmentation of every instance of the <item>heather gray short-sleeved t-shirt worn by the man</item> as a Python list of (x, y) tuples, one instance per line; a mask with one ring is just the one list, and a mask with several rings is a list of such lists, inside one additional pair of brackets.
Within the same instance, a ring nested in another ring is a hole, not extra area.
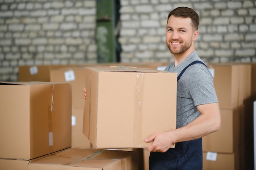
[[(196, 51), (193, 51), (178, 66), (174, 66), (173, 62), (166, 67), (165, 71), (179, 75), (195, 60), (202, 62)], [(200, 116), (195, 106), (209, 103), (218, 103), (213, 77), (209, 69), (200, 63), (189, 66), (177, 82), (177, 128), (189, 124)]]

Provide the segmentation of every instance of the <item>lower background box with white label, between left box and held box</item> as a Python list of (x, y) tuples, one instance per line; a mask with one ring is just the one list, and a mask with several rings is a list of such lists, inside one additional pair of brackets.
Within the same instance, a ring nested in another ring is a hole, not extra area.
[(72, 108), (72, 148), (92, 148), (83, 134), (83, 108)]

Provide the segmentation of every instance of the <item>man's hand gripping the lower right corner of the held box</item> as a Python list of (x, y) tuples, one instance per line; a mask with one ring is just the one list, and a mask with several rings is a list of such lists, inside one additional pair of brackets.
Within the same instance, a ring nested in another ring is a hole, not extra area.
[(168, 149), (170, 149), (172, 146), (172, 143), (170, 143), (171, 140), (169, 139), (170, 132), (154, 133), (153, 135), (145, 139), (145, 142), (153, 141), (148, 150), (150, 152), (166, 152)]

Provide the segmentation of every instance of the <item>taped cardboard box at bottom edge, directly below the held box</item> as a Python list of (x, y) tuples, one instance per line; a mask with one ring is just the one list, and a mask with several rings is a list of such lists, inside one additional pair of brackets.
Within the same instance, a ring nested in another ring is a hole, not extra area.
[(70, 148), (29, 163), (29, 170), (138, 170), (136, 152)]

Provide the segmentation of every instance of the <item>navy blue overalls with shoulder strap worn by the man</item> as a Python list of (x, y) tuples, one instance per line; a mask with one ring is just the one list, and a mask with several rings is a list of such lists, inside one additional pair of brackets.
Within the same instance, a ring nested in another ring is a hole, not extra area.
[[(186, 68), (196, 63), (204, 64), (201, 61), (192, 62), (182, 70), (177, 81)], [(202, 170), (202, 138), (178, 142), (175, 148), (166, 152), (150, 152), (149, 170)]]

